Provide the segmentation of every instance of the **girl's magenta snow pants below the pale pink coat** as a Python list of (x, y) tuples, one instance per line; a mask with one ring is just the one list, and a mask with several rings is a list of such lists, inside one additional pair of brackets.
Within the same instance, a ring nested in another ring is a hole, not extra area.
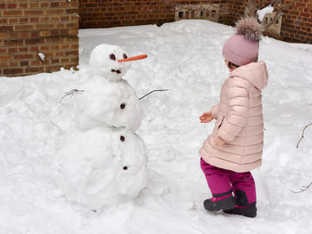
[(212, 196), (220, 198), (231, 194), (244, 192), (248, 203), (256, 202), (256, 185), (250, 172), (235, 173), (226, 169), (209, 165), (201, 158), (201, 170), (206, 176), (206, 180)]

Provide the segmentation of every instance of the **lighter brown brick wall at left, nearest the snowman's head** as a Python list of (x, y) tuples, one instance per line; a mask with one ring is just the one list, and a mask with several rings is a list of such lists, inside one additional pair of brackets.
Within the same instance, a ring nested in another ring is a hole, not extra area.
[(78, 0), (0, 0), (0, 76), (77, 65)]

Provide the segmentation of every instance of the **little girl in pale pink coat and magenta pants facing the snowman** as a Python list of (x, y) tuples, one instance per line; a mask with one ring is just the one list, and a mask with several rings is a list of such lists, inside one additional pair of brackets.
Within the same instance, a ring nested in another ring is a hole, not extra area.
[(256, 187), (250, 170), (261, 165), (261, 91), (267, 86), (267, 67), (256, 62), (262, 36), (258, 20), (245, 18), (236, 27), (237, 34), (223, 47), (230, 76), (222, 85), (220, 102), (200, 117), (201, 123), (217, 120), (200, 149), (201, 169), (212, 193), (204, 207), (255, 217)]

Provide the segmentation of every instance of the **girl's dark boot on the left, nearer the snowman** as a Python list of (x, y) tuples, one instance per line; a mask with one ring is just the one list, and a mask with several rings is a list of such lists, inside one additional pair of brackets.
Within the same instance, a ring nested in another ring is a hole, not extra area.
[(235, 198), (230, 195), (226, 195), (221, 198), (210, 198), (203, 202), (203, 206), (208, 211), (228, 210), (235, 207)]

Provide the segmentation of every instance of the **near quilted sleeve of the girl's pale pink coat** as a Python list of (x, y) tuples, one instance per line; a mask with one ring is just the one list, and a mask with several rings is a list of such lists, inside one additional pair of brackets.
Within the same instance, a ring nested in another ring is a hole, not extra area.
[(248, 84), (240, 77), (231, 77), (226, 89), (227, 113), (218, 128), (217, 135), (226, 141), (235, 136), (246, 125), (249, 113)]

